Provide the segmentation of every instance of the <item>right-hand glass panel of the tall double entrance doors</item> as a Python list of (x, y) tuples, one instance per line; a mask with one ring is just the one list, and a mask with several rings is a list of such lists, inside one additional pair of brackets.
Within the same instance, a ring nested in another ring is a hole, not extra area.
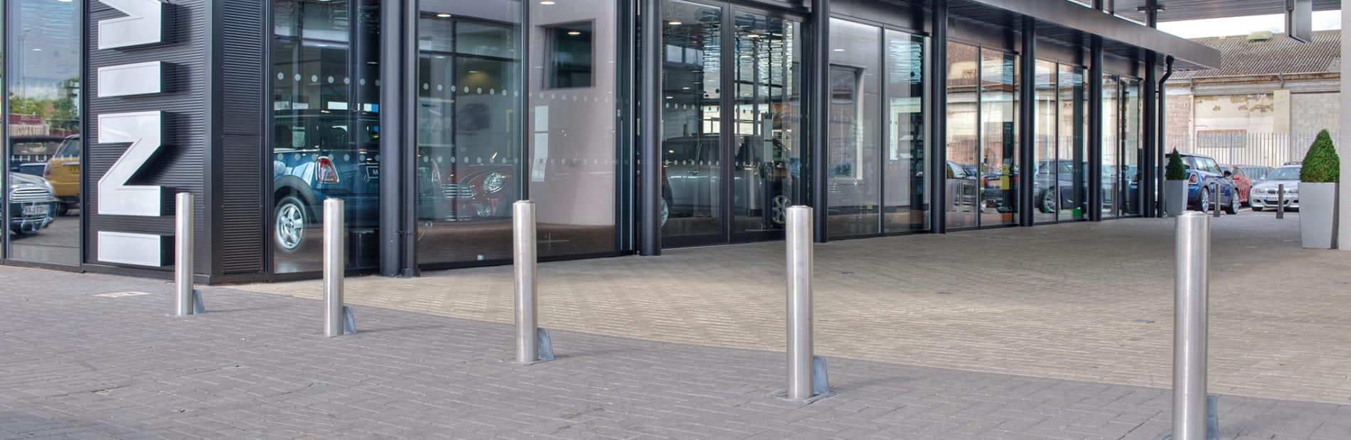
[(735, 232), (782, 229), (801, 162), (798, 23), (736, 12)]

